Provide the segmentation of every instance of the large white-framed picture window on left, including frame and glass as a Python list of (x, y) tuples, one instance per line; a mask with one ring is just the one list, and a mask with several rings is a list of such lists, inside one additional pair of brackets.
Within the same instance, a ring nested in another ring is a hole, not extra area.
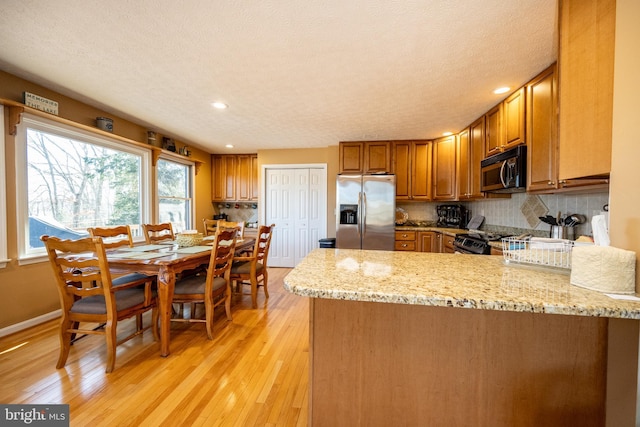
[(44, 255), (43, 234), (79, 238), (118, 224), (139, 234), (149, 218), (148, 150), (26, 114), (16, 143), (21, 261)]

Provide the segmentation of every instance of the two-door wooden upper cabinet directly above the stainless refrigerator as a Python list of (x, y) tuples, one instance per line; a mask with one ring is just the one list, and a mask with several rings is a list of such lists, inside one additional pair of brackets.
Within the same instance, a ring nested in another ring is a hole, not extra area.
[(380, 172), (391, 172), (389, 141), (340, 143), (340, 173)]

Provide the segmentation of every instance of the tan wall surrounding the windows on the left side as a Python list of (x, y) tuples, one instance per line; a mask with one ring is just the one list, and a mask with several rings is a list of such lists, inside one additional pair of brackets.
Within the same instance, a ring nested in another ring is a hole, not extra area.
[[(113, 114), (90, 107), (74, 99), (62, 96), (54, 91), (38, 86), (11, 74), (0, 71), (0, 98), (22, 102), (24, 91), (53, 99), (59, 103), (59, 117), (74, 122), (95, 126), (95, 118), (107, 116), (114, 119), (114, 134), (136, 141), (146, 141), (147, 128), (121, 119)], [(5, 129), (8, 132), (8, 109), (5, 109)], [(161, 135), (158, 135), (160, 138)], [(1, 185), (15, 181), (14, 137), (6, 134), (6, 170), (1, 171)], [(182, 145), (177, 141), (177, 145)], [(196, 219), (211, 217), (211, 156), (209, 153), (192, 148), (194, 160), (202, 162), (196, 176), (195, 211)], [(4, 214), (4, 213), (2, 213)], [(7, 185), (7, 243), (11, 261), (6, 268), (0, 269), (0, 332), (20, 322), (45, 316), (60, 308), (56, 285), (47, 262), (19, 266), (16, 236), (16, 192), (15, 186)], [(199, 228), (202, 224), (196, 222)]]

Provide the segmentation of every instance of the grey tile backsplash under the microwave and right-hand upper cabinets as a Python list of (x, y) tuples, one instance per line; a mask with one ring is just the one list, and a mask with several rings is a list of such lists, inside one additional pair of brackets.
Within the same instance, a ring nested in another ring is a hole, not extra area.
[[(486, 199), (474, 202), (396, 202), (396, 206), (409, 214), (409, 220), (436, 221), (436, 206), (440, 204), (460, 203), (471, 211), (471, 215), (483, 215), (484, 226), (513, 227), (537, 231), (549, 231), (548, 224), (535, 223), (537, 216), (551, 215), (558, 212), (562, 216), (567, 214), (582, 214), (587, 217), (585, 224), (576, 227), (576, 237), (591, 236), (591, 218), (601, 213), (604, 205), (609, 203), (609, 193), (589, 194), (539, 194), (513, 193), (510, 199)], [(545, 209), (546, 207), (546, 209)], [(546, 212), (543, 213), (543, 211)], [(532, 226), (534, 224), (534, 226)]]

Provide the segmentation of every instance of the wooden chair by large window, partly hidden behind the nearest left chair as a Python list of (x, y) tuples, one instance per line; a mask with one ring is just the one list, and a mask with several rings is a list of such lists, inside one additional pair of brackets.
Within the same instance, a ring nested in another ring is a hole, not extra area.
[[(101, 237), (105, 249), (116, 249), (123, 246), (133, 247), (133, 236), (131, 227), (128, 225), (118, 225), (115, 227), (89, 227), (87, 228), (91, 237)], [(155, 288), (155, 277), (142, 273), (121, 274), (111, 270), (112, 284), (114, 286), (147, 286), (148, 282)], [(137, 327), (142, 327), (142, 314), (136, 316)]]

